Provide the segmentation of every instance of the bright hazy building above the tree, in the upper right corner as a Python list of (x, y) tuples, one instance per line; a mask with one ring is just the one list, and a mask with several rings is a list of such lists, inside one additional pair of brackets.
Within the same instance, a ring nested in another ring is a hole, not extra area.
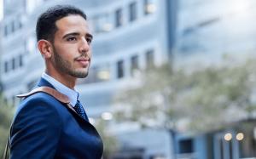
[(255, 56), (256, 3), (253, 0), (180, 0), (177, 65), (218, 62), (230, 54)]

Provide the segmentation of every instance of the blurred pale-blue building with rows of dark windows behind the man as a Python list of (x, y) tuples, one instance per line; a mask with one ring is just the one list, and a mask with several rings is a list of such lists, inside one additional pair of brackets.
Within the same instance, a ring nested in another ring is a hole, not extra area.
[[(33, 88), (44, 71), (35, 26), (38, 15), (55, 4), (73, 4), (89, 17), (93, 62), (89, 77), (79, 80), (77, 89), (91, 122), (99, 117), (111, 120), (113, 95), (130, 87), (140, 71), (172, 58), (176, 1), (5, 0), (1, 80), (6, 100), (13, 105), (19, 102), (15, 95)], [(142, 133), (129, 124), (111, 128), (122, 146), (116, 158), (131, 158), (137, 151), (142, 158), (172, 158), (168, 131)], [(128, 155), (120, 156), (124, 153)]]

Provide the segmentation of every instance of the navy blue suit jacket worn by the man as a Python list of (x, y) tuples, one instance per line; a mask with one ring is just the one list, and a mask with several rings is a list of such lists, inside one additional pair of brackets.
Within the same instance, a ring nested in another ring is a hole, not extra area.
[[(53, 86), (41, 78), (38, 86)], [(17, 108), (10, 133), (11, 159), (100, 159), (102, 139), (90, 122), (46, 93)]]

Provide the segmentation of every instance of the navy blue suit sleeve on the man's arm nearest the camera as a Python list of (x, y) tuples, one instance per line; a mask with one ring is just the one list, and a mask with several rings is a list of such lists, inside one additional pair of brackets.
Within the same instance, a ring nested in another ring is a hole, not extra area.
[(48, 100), (30, 99), (15, 116), (11, 130), (11, 159), (54, 158), (62, 122), (55, 106)]

